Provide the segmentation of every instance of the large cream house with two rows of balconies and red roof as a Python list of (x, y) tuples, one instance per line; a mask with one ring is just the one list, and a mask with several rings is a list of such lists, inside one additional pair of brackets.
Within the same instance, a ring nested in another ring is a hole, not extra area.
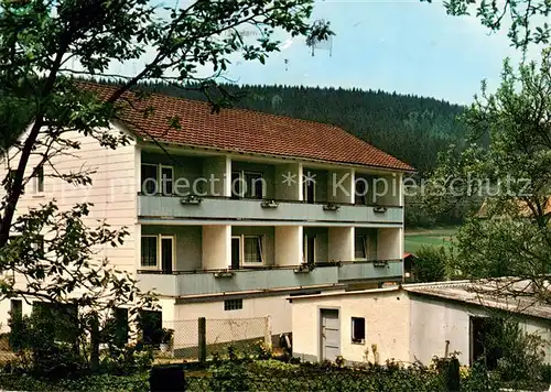
[[(410, 166), (329, 124), (213, 115), (159, 95), (144, 105), (149, 118), (130, 110), (111, 124), (131, 135), (129, 145), (107, 150), (75, 135), (77, 159), (54, 162), (62, 173), (96, 170), (93, 186), (50, 178), (46, 165), (18, 211), (52, 197), (62, 209), (90, 202), (93, 219), (126, 226), (125, 243), (101, 255), (160, 294), (163, 323), (270, 316), (276, 335), (291, 330), (289, 295), (402, 280)], [(176, 117), (180, 130), (169, 127)], [(1, 305), (0, 319), (9, 308)]]

